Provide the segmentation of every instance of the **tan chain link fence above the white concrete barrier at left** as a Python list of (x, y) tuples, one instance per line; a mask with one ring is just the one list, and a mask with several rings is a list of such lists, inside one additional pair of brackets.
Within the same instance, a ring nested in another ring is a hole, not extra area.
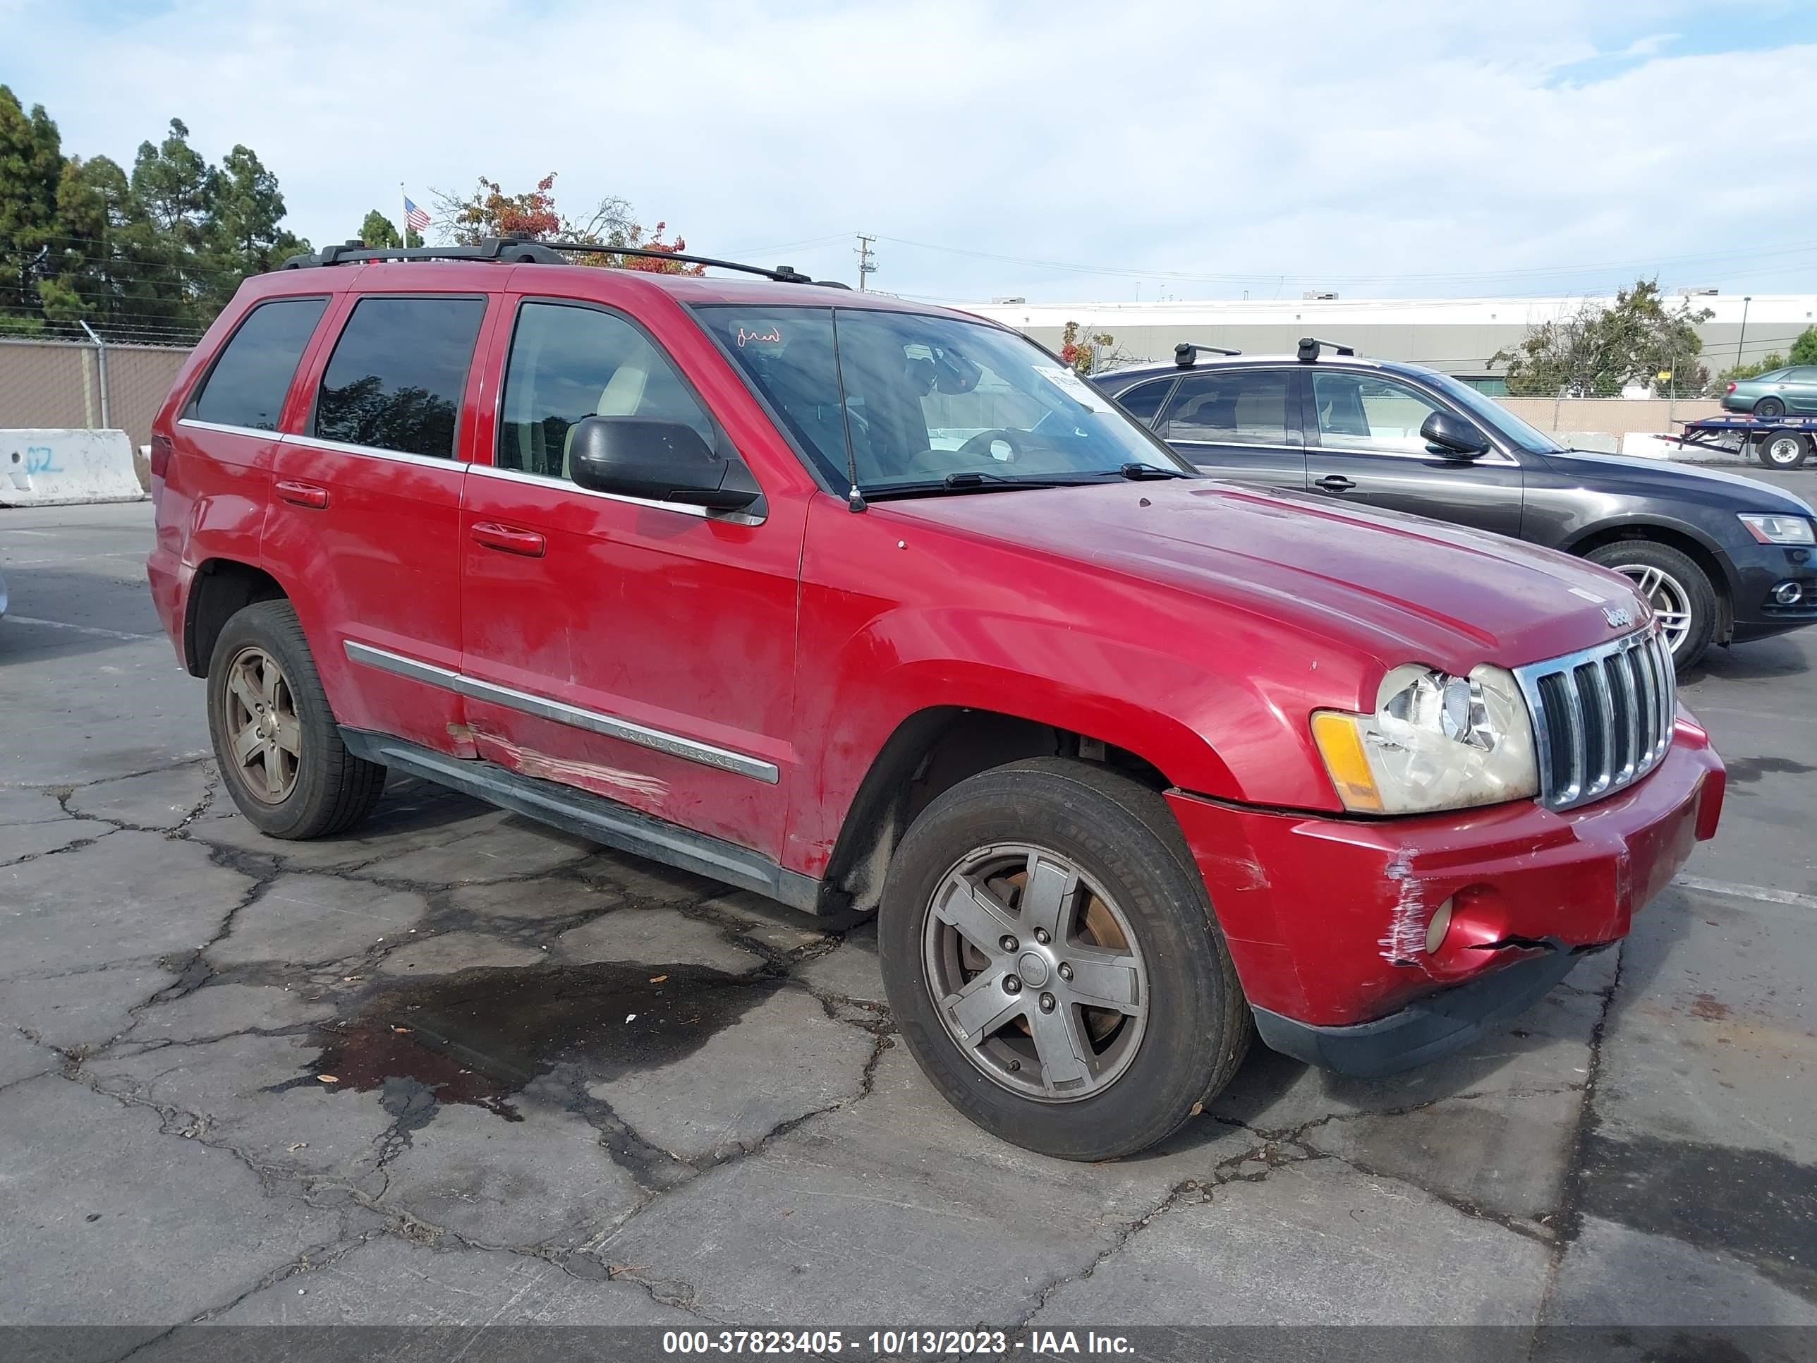
[(120, 429), (138, 449), (151, 442), (151, 418), (189, 349), (80, 329), (76, 336), (0, 334), (0, 429)]

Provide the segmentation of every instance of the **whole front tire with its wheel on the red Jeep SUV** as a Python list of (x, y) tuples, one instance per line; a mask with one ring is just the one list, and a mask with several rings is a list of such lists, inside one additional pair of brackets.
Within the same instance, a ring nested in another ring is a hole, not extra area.
[[(992, 880), (992, 858), (1003, 858), (1010, 876), (1025, 867), (1021, 885)], [(1077, 889), (1054, 892), (1057, 918), (1048, 921), (1061, 930), (1041, 938), (1041, 901), (1021, 887), (1039, 876), (1070, 889), (1065, 876), (1050, 878), (1067, 869)], [(979, 881), (1012, 920), (987, 918), (974, 923), (981, 930), (959, 932), (945, 914), (976, 914), (976, 900), (958, 887)], [(999, 938), (987, 956), (976, 938), (996, 927), (1016, 936), (1014, 950)], [(1248, 1050), (1248, 1003), (1167, 801), (1096, 763), (1018, 761), (936, 798), (890, 861), (878, 930), (890, 1010), (921, 1070), (967, 1118), (1028, 1150), (1061, 1159), (1143, 1150), (1223, 1089)], [(1096, 963), (1087, 967), (1090, 943)], [(979, 1000), (970, 1016), (1021, 1012), (967, 1045), (950, 1009), (936, 1003), (936, 994), (950, 1007), (972, 998), (952, 989), (959, 980)], [(1096, 989), (1105, 998), (1125, 985), (1139, 1016), (1076, 1007), (1068, 992)], [(1039, 1050), (1036, 1025), (1048, 1047), (1061, 1034), (1074, 1049)], [(1094, 1050), (1083, 1063), (1081, 1041)], [(1047, 1063), (1048, 1054), (1059, 1063)], [(1032, 1061), (1027, 1070), (1023, 1058)]]

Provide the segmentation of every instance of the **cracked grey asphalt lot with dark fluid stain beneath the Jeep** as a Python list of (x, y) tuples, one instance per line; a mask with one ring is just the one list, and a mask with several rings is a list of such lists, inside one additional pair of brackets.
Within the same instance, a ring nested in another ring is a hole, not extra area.
[(0, 516), (0, 1325), (1817, 1323), (1817, 634), (1684, 687), (1726, 823), (1619, 952), (1068, 1165), (921, 1079), (865, 923), (409, 780), (256, 834), (149, 534)]

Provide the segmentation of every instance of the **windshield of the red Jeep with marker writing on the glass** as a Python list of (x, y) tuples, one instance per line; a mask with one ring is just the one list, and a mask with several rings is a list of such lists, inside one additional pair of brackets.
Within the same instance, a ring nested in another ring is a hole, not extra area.
[(845, 489), (852, 469), (867, 496), (1192, 473), (1001, 327), (858, 307), (694, 311), (830, 487)]

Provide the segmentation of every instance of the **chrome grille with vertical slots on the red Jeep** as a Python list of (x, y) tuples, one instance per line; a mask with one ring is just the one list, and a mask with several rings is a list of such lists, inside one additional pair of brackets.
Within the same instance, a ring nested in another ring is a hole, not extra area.
[(1672, 651), (1644, 629), (1514, 669), (1534, 716), (1539, 798), (1572, 809), (1633, 785), (1672, 747)]

